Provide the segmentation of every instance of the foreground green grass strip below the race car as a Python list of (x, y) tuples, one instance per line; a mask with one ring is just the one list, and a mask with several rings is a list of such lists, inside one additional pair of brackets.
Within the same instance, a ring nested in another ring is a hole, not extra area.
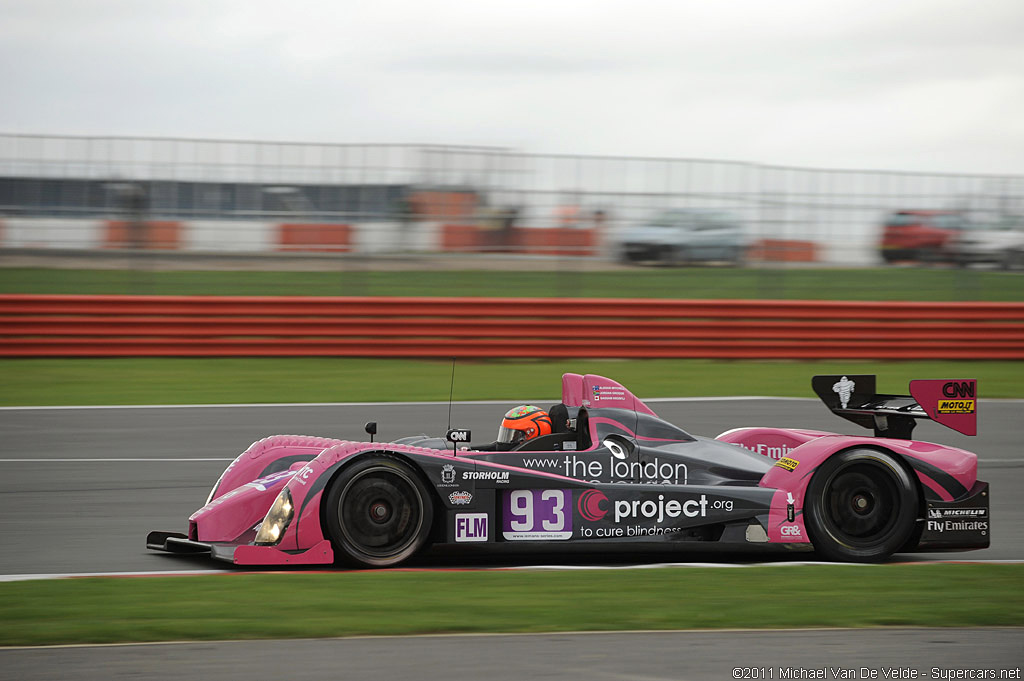
[(373, 571), (0, 584), (0, 645), (1024, 626), (1024, 565)]

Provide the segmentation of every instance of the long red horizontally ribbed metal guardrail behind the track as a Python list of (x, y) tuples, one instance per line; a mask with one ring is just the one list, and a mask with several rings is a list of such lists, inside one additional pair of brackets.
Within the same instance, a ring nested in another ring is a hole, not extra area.
[(1022, 359), (1024, 303), (0, 296), (0, 356)]

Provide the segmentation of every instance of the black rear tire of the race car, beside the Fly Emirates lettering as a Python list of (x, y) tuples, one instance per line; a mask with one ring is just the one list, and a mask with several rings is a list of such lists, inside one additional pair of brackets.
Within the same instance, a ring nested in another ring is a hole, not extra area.
[(811, 478), (804, 505), (814, 550), (827, 560), (878, 562), (907, 543), (919, 506), (918, 485), (894, 455), (847, 450)]

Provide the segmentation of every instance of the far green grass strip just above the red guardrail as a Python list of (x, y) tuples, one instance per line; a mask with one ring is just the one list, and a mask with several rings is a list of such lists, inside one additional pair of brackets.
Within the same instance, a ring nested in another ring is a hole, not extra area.
[[(144, 263), (142, 264), (144, 266)], [(1024, 300), (1017, 272), (943, 268), (645, 267), (583, 271), (164, 271), (0, 268), (0, 293), (292, 296), (521, 296), (823, 300)]]

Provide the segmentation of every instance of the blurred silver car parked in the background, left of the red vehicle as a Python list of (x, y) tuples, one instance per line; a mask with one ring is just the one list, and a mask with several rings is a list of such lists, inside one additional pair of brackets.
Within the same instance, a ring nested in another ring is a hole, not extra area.
[(625, 262), (665, 263), (743, 260), (743, 228), (735, 216), (712, 210), (673, 209), (628, 227), (618, 238)]

